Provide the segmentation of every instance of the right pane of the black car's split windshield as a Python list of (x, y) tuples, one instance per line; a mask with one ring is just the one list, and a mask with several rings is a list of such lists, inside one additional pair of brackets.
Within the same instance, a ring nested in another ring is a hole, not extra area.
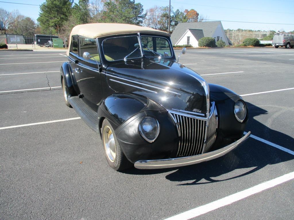
[(172, 55), (170, 44), (166, 38), (141, 36), (141, 44), (146, 57), (171, 57)]

